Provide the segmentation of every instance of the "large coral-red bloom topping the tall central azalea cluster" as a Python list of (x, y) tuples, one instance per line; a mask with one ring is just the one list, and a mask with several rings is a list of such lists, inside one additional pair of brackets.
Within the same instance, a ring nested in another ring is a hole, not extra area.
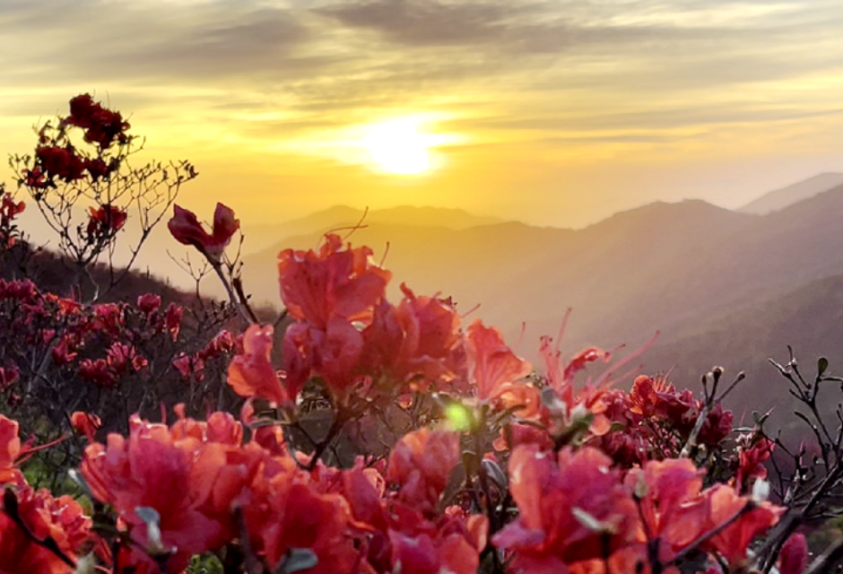
[(334, 317), (368, 321), (392, 274), (369, 262), (369, 248), (343, 249), (328, 235), (319, 252), (285, 249), (278, 254), (281, 298), (290, 315), (326, 329)]

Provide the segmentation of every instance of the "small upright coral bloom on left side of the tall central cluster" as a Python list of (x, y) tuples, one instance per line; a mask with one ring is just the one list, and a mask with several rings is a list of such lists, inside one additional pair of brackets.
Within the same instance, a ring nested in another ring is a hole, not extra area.
[(282, 387), (272, 365), (273, 335), (271, 325), (248, 327), (243, 335), (243, 352), (231, 359), (228, 382), (239, 396), (262, 396), (275, 404), (288, 404), (300, 389), (288, 393)]

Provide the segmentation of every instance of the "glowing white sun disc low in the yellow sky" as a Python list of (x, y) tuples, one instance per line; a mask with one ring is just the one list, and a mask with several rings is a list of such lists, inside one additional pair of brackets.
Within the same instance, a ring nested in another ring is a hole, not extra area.
[(397, 119), (371, 126), (363, 140), (371, 160), (380, 170), (418, 175), (430, 170), (431, 136), (418, 131), (410, 120)]

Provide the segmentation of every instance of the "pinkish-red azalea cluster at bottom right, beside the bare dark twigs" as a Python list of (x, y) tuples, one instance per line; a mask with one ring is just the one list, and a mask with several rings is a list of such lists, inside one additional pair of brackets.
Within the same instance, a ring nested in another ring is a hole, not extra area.
[(657, 563), (678, 574), (689, 548), (741, 571), (747, 546), (784, 510), (725, 484), (701, 490), (700, 471), (687, 458), (649, 461), (623, 476), (594, 448), (554, 457), (526, 446), (509, 465), (520, 517), (492, 542), (514, 552), (517, 572), (601, 571), (604, 563), (613, 572), (643, 572)]

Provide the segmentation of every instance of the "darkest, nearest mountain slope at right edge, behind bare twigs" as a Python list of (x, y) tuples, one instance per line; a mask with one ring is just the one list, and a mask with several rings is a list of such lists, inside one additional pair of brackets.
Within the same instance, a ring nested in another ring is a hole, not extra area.
[[(645, 372), (670, 372), (691, 385), (715, 365), (726, 369), (726, 383), (743, 370), (744, 380), (726, 400), (736, 418), (752, 424), (752, 410), (773, 409), (770, 422), (786, 431), (807, 431), (793, 416), (791, 388), (769, 358), (787, 364), (787, 345), (804, 377), (812, 381), (816, 361), (825, 356), (829, 373), (843, 375), (843, 275), (825, 277), (784, 295), (731, 309), (696, 326), (696, 335), (665, 339), (643, 357)], [(839, 386), (821, 390), (821, 410), (828, 416), (843, 399)]]

